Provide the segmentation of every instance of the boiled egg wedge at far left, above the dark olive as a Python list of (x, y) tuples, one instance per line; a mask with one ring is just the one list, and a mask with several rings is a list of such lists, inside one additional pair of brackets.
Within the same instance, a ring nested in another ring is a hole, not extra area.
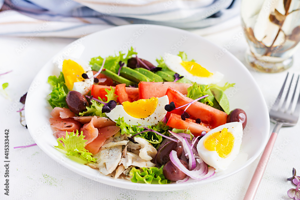
[[(64, 74), (64, 81), (67, 88), (78, 91), (81, 94), (87, 94), (94, 83), (94, 79), (91, 78), (94, 75), (91, 67), (79, 59), (64, 60), (62, 73)], [(83, 73), (86, 73), (90, 79), (82, 78)]]

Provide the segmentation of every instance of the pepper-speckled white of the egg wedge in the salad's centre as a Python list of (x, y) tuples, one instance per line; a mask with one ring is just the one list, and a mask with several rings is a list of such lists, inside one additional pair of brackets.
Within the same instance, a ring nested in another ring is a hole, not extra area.
[(117, 105), (111, 112), (106, 113), (107, 117), (109, 117), (112, 121), (117, 120), (119, 117), (124, 117), (124, 121), (127, 124), (138, 125), (141, 124), (143, 126), (153, 126), (158, 124), (167, 114), (165, 110), (165, 105), (169, 104), (169, 98), (167, 95), (158, 98), (158, 103), (155, 111), (146, 118), (135, 118), (127, 114), (122, 105)]

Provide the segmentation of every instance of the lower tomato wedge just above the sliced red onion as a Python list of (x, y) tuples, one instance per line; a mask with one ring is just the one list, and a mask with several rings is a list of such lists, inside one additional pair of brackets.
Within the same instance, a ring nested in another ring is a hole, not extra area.
[(194, 136), (201, 136), (202, 131), (207, 133), (211, 130), (207, 124), (197, 124), (196, 120), (193, 119), (186, 119), (184, 121), (180, 115), (174, 113), (170, 115), (167, 126), (178, 129), (189, 129)]

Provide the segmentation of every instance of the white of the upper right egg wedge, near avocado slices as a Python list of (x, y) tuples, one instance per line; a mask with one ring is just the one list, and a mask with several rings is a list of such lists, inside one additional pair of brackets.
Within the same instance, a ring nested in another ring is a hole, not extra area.
[(182, 59), (178, 55), (168, 54), (165, 56), (164, 61), (170, 70), (173, 70), (174, 72), (180, 74), (180, 76), (185, 76), (190, 81), (196, 82), (198, 84), (202, 84), (202, 85), (216, 84), (220, 82), (224, 76), (222, 73), (218, 71), (211, 72), (213, 74), (209, 77), (195, 76), (189, 73), (187, 70), (185, 70), (185, 68), (181, 65)]

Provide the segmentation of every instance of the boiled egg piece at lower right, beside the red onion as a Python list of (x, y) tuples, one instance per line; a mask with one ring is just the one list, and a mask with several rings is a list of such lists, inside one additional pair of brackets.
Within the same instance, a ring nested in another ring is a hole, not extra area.
[(197, 151), (202, 160), (221, 172), (230, 165), (241, 147), (243, 126), (241, 122), (231, 122), (214, 128), (203, 136)]

